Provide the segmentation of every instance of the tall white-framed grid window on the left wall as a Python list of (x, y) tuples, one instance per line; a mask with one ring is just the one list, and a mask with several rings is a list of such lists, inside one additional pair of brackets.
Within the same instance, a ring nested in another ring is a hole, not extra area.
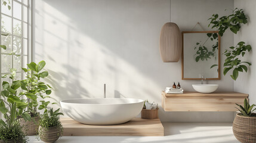
[[(1, 76), (17, 69), (16, 79), (24, 78), (21, 67), (30, 61), (30, 0), (1, 0)], [(8, 78), (2, 81), (10, 82)]]

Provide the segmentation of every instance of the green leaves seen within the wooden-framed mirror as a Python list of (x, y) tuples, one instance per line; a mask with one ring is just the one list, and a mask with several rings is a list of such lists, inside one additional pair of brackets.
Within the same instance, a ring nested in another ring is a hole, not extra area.
[[(202, 61), (204, 60), (209, 60), (211, 59), (211, 57), (215, 57), (216, 59), (216, 55), (215, 55), (215, 51), (216, 49), (218, 49), (218, 35), (217, 33), (207, 33), (206, 34), (208, 36), (208, 38), (206, 39), (206, 41), (203, 44), (200, 44), (199, 42), (196, 43), (196, 46), (194, 49), (197, 49), (198, 51), (196, 51), (196, 62), (198, 62), (200, 59)], [(217, 43), (215, 45), (212, 45), (212, 50), (208, 50), (208, 48), (206, 48), (205, 43), (211, 39), (211, 41), (213, 41), (214, 39), (217, 39)]]

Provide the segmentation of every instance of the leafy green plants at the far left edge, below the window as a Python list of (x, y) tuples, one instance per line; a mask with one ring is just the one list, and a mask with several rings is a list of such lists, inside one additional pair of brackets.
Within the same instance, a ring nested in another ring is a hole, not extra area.
[(28, 138), (18, 120), (21, 117), (31, 120), (27, 111), (24, 111), (28, 104), (26, 100), (21, 100), (22, 95), (18, 94), (21, 82), (15, 80), (16, 69), (11, 69), (11, 73), (3, 77), (7, 76), (11, 82), (2, 82), (0, 111), (4, 120), (0, 119), (0, 142), (27, 142)]

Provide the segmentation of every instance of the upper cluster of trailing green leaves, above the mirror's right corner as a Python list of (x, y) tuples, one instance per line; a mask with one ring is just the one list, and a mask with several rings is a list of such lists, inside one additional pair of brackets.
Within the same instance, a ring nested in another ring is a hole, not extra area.
[(232, 14), (218, 18), (218, 14), (213, 14), (208, 27), (212, 24), (212, 29), (217, 28), (220, 36), (223, 36), (224, 32), (229, 28), (233, 33), (237, 33), (240, 30), (240, 24), (246, 24), (247, 18), (243, 13), (243, 9), (235, 8)]

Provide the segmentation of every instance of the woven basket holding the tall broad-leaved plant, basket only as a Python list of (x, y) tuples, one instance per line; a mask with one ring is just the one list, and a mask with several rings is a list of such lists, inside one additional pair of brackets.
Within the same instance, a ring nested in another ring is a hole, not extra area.
[[(37, 123), (37, 125), (33, 122), (33, 119)], [(23, 127), (23, 132), (28, 135), (36, 135), (38, 133), (38, 122), (39, 122), (39, 116), (32, 117), (31, 121), (25, 121), (24, 119), (20, 119), (20, 125)]]

